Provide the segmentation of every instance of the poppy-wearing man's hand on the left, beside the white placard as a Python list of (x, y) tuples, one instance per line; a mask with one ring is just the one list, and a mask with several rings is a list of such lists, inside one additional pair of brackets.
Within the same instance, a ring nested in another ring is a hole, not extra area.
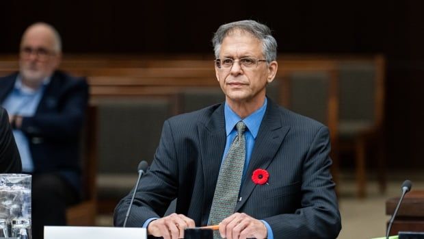
[(183, 214), (173, 213), (150, 222), (147, 226), (147, 234), (162, 236), (163, 239), (184, 238), (184, 229), (195, 226), (193, 219)]

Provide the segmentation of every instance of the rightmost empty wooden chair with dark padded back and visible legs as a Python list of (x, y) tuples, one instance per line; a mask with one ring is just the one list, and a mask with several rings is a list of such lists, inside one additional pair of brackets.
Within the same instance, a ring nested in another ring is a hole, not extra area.
[[(384, 58), (342, 60), (339, 64), (341, 153), (353, 151), (358, 197), (366, 195), (366, 164), (377, 163), (380, 191), (386, 189), (384, 163)], [(373, 146), (375, 158), (370, 155)]]

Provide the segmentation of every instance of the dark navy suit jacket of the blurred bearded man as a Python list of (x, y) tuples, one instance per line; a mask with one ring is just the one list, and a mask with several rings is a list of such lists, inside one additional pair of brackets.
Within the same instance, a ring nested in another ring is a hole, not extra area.
[[(17, 73), (0, 78), (0, 102), (14, 88)], [(34, 173), (57, 172), (79, 190), (80, 134), (88, 104), (88, 84), (83, 78), (55, 71), (34, 116), (23, 118), (22, 131), (29, 140)]]

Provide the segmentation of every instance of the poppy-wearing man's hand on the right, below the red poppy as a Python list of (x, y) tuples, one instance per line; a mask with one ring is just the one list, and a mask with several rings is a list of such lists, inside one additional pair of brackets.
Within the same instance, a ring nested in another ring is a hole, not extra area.
[(267, 227), (252, 216), (238, 213), (228, 216), (220, 223), (222, 238), (267, 238)]

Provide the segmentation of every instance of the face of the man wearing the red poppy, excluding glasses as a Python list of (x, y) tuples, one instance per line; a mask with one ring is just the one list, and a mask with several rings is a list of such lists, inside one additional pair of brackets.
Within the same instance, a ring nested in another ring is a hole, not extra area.
[(215, 73), (226, 95), (226, 101), (232, 103), (261, 104), (265, 99), (265, 87), (274, 79), (277, 63), (257, 62), (245, 66), (240, 58), (264, 60), (261, 41), (248, 32), (236, 30), (222, 41), (220, 58), (233, 59), (230, 68), (218, 68)]

